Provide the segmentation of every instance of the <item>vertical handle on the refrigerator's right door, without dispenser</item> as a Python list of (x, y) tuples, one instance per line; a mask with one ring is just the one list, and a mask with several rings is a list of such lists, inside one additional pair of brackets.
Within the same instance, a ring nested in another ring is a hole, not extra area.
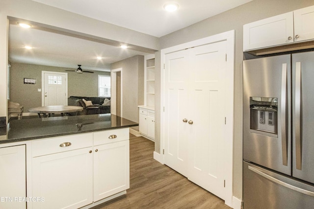
[(296, 169), (301, 170), (301, 62), (295, 63), (295, 160)]

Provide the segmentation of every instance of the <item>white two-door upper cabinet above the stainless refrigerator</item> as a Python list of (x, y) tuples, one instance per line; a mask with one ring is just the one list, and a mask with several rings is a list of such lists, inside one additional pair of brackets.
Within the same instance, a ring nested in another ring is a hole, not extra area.
[(314, 39), (314, 6), (243, 25), (243, 50)]

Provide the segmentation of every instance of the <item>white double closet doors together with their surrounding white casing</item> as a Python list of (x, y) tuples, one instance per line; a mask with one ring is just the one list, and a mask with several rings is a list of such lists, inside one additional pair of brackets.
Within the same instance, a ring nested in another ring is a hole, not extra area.
[[(161, 109), (164, 108), (160, 127), (160, 153), (164, 150), (161, 163), (170, 167), (174, 164), (175, 170), (181, 170), (179, 172), (189, 180), (221, 197), (231, 207), (234, 32), (161, 50), (161, 66), (164, 65), (161, 73)], [(171, 73), (177, 71), (177, 80), (169, 79), (169, 66), (173, 70)], [(171, 82), (167, 82), (169, 80)], [(183, 83), (191, 90), (187, 91)], [(184, 103), (187, 105), (181, 107)], [(187, 109), (186, 113), (184, 109)], [(187, 121), (183, 122), (185, 118)], [(189, 120), (193, 124), (189, 124)]]

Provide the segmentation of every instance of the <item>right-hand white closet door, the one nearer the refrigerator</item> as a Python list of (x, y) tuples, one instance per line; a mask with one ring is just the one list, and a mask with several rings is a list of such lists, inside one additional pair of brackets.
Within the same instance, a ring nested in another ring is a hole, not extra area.
[(192, 48), (188, 179), (221, 197), (224, 188), (226, 41)]

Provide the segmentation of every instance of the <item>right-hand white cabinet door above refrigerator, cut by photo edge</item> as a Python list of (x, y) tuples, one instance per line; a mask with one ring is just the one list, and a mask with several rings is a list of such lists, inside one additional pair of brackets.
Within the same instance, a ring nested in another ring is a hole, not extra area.
[(314, 39), (314, 6), (293, 11), (294, 41)]

